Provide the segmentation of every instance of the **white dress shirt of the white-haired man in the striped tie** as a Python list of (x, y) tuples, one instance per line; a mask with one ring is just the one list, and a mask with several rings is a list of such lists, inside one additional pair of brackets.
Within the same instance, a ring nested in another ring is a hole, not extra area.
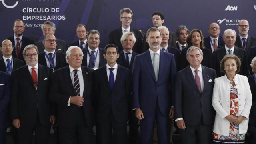
[[(68, 67), (69, 67), (71, 81), (72, 81), (72, 84), (73, 84), (73, 87), (74, 87), (74, 72), (73, 72), (74, 68), (72, 68), (71, 66), (68, 66)], [(82, 68), (81, 67), (79, 67), (77, 69), (77, 76), (78, 76), (78, 80), (79, 80), (80, 96), (83, 97), (83, 94), (84, 94), (84, 77), (83, 77), (83, 74), (82, 74)], [(71, 96), (68, 99), (68, 106), (70, 106), (70, 98), (71, 98)]]

